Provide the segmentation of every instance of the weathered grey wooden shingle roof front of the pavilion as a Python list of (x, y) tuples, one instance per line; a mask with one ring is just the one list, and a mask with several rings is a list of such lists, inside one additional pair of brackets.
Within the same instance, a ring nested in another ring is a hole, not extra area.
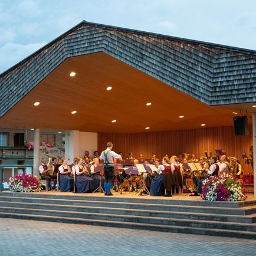
[(256, 51), (83, 21), (0, 76), (0, 117), (68, 57), (105, 52), (208, 105), (256, 101)]

